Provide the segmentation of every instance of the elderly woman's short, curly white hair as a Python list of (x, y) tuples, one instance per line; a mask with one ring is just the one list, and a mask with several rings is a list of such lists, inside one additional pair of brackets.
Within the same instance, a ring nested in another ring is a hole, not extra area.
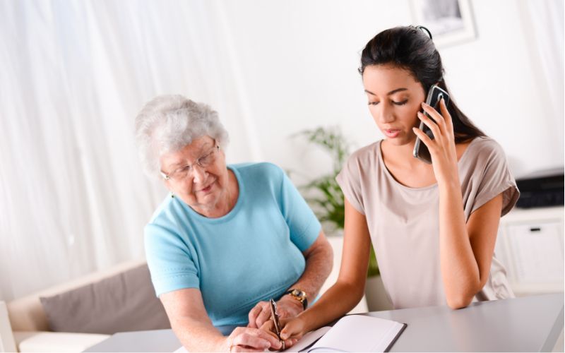
[(181, 150), (195, 138), (210, 136), (225, 149), (228, 136), (218, 112), (182, 95), (160, 95), (136, 117), (136, 142), (145, 173), (160, 175), (161, 155)]

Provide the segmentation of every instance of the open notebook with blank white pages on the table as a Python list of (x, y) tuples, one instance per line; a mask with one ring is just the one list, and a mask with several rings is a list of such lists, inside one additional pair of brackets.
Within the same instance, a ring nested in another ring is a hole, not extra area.
[(388, 352), (405, 327), (405, 323), (383, 318), (348, 315), (331, 328), (326, 326), (307, 333), (288, 351)]

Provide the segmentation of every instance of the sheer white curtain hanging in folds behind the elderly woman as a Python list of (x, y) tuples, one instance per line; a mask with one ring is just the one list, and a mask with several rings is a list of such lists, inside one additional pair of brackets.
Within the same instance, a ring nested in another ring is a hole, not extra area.
[[(166, 190), (138, 164), (155, 95), (211, 104), (259, 160), (218, 1), (0, 1), (0, 299), (143, 257)], [(237, 136), (237, 138), (234, 138)]]

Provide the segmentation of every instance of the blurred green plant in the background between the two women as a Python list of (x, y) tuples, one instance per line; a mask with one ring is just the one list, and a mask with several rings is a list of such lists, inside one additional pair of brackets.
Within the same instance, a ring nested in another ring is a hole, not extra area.
[[(319, 146), (331, 156), (333, 161), (331, 172), (309, 181), (308, 184), (300, 186), (299, 189), (303, 191), (304, 198), (310, 204), (320, 222), (330, 231), (328, 235), (335, 234), (335, 231), (339, 230), (343, 232), (345, 199), (335, 177), (350, 155), (350, 143), (343, 137), (338, 127), (318, 127), (313, 130), (301, 131), (295, 136), (306, 138), (309, 143)], [(340, 254), (336, 254), (336, 256), (340, 256)], [(379, 265), (376, 263), (375, 252), (371, 245), (367, 277), (376, 275), (379, 275)]]

